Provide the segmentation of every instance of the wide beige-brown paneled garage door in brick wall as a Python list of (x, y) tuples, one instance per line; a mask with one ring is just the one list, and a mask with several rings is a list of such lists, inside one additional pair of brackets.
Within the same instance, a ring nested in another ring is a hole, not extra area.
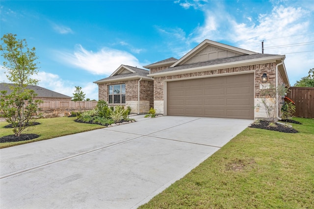
[(167, 82), (167, 115), (254, 119), (254, 73)]

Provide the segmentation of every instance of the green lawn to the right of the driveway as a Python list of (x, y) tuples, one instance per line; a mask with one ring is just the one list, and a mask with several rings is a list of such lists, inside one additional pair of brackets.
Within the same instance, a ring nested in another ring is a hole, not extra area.
[(140, 209), (314, 208), (314, 119), (247, 128)]

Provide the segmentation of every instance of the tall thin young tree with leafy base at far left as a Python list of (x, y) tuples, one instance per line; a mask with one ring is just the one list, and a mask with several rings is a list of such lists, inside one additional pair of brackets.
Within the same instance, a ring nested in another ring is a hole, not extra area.
[(6, 70), (6, 77), (13, 86), (10, 86), (11, 93), (1, 91), (0, 95), (0, 116), (4, 117), (13, 126), (15, 136), (20, 137), (27, 126), (36, 119), (38, 104), (41, 100), (34, 100), (34, 91), (26, 89), (27, 85), (36, 85), (37, 79), (31, 75), (38, 73), (35, 48), (29, 49), (26, 40), (17, 40), (15, 34), (5, 34), (1, 38), (0, 50), (3, 57), (3, 68)]

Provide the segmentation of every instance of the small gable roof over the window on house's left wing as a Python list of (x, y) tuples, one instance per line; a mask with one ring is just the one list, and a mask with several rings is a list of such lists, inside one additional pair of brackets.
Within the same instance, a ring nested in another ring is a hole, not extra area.
[(148, 70), (128, 66), (128, 65), (121, 65), (117, 70), (115, 70), (109, 77), (103, 78), (98, 81), (94, 81), (94, 83), (107, 83), (112, 81), (122, 81), (122, 80), (130, 80), (130, 79), (144, 79), (144, 80), (151, 80), (152, 78), (148, 77), (149, 74)]

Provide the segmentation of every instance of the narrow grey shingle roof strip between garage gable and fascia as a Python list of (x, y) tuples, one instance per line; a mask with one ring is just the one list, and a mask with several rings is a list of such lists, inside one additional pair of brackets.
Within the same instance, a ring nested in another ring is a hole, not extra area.
[[(251, 60), (251, 59), (258, 59), (263, 57), (271, 57), (271, 56), (278, 56), (276, 54), (251, 54), (251, 55), (240, 55), (235, 57), (227, 57), (227, 58), (221, 58), (221, 59), (215, 59), (215, 60), (209, 60), (205, 62), (199, 62), (199, 63), (192, 63), (187, 65), (180, 65), (172, 68), (167, 68), (165, 70), (157, 71), (159, 72), (167, 72), (167, 71), (174, 71), (174, 70), (183, 70), (183, 69), (190, 69), (190, 68), (197, 68), (197, 67), (203, 67), (203, 66), (211, 66), (211, 65), (218, 65), (218, 64), (224, 64), (224, 63), (232, 63), (232, 62), (238, 62), (238, 61), (244, 61), (244, 60)], [(154, 74), (154, 73), (152, 73)]]

